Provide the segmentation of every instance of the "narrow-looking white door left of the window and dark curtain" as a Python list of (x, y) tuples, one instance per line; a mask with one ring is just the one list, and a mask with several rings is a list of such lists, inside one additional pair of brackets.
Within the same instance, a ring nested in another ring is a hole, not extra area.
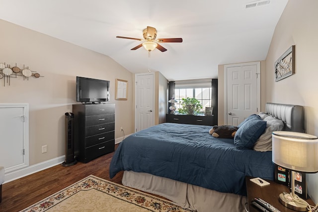
[(154, 126), (154, 74), (136, 74), (135, 131)]

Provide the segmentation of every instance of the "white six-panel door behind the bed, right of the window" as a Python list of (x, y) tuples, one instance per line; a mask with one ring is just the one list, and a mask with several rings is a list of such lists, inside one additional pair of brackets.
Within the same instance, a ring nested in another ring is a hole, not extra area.
[(227, 125), (238, 126), (260, 107), (260, 63), (225, 66)]

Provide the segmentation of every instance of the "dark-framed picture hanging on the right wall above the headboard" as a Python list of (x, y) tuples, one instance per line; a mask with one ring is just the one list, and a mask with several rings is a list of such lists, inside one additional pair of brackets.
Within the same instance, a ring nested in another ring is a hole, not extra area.
[(275, 62), (275, 82), (295, 73), (295, 45)]

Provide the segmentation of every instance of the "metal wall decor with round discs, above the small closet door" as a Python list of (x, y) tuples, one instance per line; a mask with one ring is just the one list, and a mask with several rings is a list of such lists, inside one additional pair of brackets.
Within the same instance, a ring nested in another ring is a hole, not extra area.
[[(15, 66), (10, 68), (10, 65), (5, 65), (5, 63), (0, 63), (0, 79), (3, 78), (3, 86), (5, 83), (10, 85), (11, 78), (17, 78), (18, 76), (23, 76), (23, 80), (29, 80), (30, 76), (34, 76), (35, 78), (39, 78), (41, 75), (36, 71), (29, 70), (29, 67), (24, 67), (20, 69), (19, 67)], [(43, 77), (43, 76), (42, 76)]]

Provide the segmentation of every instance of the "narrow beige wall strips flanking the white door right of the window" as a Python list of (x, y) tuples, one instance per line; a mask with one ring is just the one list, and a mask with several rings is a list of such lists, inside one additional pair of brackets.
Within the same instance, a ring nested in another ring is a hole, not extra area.
[[(249, 61), (250, 62), (250, 61)], [(249, 63), (246, 62), (246, 63)], [(228, 64), (225, 64), (228, 65)], [(225, 65), (219, 65), (218, 66), (218, 125), (225, 125), (224, 120), (224, 66)], [(266, 64), (265, 61), (260, 62), (260, 92), (261, 92), (261, 99), (260, 104), (261, 108), (260, 111), (265, 110), (265, 94), (266, 94)]]

